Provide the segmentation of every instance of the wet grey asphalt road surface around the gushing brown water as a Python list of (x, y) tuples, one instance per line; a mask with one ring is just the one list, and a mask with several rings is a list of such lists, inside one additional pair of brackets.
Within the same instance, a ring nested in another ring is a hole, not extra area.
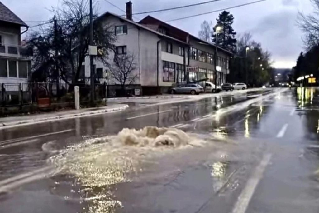
[(145, 126), (211, 142), (154, 157), (131, 181), (112, 185), (122, 203), (115, 212), (319, 212), (319, 90), (279, 91), (128, 103), (124, 112), (1, 130), (0, 212), (107, 212), (80, 199), (72, 176), (30, 177), (66, 146)]

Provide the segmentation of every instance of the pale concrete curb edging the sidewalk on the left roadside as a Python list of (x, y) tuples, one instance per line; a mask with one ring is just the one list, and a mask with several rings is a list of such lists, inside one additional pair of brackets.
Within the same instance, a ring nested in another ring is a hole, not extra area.
[(35, 123), (50, 122), (50, 121), (77, 118), (77, 117), (84, 117), (84, 116), (89, 116), (89, 115), (97, 115), (97, 114), (104, 114), (104, 113), (110, 113), (110, 112), (117, 112), (117, 111), (125, 110), (128, 107), (129, 107), (129, 105), (123, 105), (121, 107), (110, 108), (110, 109), (101, 109), (101, 110), (96, 110), (94, 112), (83, 112), (83, 113), (75, 113), (75, 114), (69, 114), (69, 115), (60, 115), (60, 116), (53, 116), (53, 117), (47, 117), (47, 118), (39, 118), (39, 119), (30, 119), (30, 120), (24, 120), (24, 121), (0, 123), (0, 130), (1, 129), (5, 129), (5, 128), (10, 128), (10, 127), (13, 127), (13, 126), (22, 126), (22, 125), (27, 125), (27, 124), (35, 124)]

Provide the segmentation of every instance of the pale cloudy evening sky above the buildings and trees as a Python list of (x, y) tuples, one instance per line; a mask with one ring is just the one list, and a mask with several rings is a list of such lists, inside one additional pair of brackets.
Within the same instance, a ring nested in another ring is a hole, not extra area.
[[(29, 26), (37, 24), (32, 21), (43, 21), (52, 18), (52, 7), (61, 4), (62, 0), (0, 0), (15, 12)], [(127, 0), (108, 0), (122, 10), (125, 10)], [(198, 0), (131, 0), (133, 13), (176, 7), (186, 4), (203, 2)], [(210, 4), (179, 9), (168, 12), (152, 13), (150, 15), (163, 20), (172, 20), (184, 16), (209, 12), (238, 4), (245, 4), (256, 0), (220, 0)], [(93, 0), (97, 4), (98, 12), (114, 12), (122, 15), (123, 12), (109, 4), (106, 0)], [(152, 4), (150, 4), (150, 2)], [(302, 34), (296, 26), (298, 11), (310, 13), (312, 5), (309, 0), (266, 0), (261, 3), (229, 10), (235, 18), (234, 29), (238, 34), (250, 32), (253, 39), (262, 44), (262, 47), (272, 54), (274, 67), (290, 68), (295, 65), (295, 60), (303, 50)], [(147, 14), (146, 14), (147, 15)], [(135, 20), (142, 19), (145, 15), (135, 16)], [(191, 19), (169, 22), (193, 35), (197, 35), (200, 24), (204, 20), (216, 22), (218, 13), (197, 16)], [(30, 22), (31, 21), (31, 22)]]

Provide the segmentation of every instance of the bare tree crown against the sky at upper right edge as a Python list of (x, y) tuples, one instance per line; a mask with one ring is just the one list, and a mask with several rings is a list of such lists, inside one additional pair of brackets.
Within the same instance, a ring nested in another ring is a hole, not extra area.
[(297, 24), (305, 34), (303, 42), (307, 49), (312, 48), (319, 43), (319, 0), (310, 0), (314, 12), (306, 15), (299, 12)]

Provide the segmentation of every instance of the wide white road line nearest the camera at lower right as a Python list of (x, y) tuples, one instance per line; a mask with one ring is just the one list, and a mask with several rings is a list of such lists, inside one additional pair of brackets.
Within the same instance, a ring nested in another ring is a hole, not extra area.
[(250, 202), (252, 195), (254, 194), (256, 187), (263, 176), (263, 172), (266, 169), (269, 161), (271, 159), (271, 154), (266, 154), (263, 156), (262, 161), (257, 166), (252, 176), (247, 181), (245, 188), (242, 190), (238, 197), (238, 200), (234, 206), (232, 213), (245, 213)]

